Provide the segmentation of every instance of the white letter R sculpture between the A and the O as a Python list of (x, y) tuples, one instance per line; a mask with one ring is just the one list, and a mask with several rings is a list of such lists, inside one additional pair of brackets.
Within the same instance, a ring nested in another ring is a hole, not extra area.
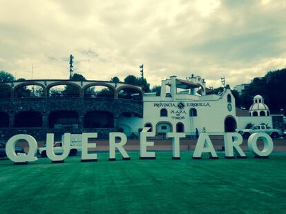
[(239, 133), (225, 133), (225, 158), (234, 158), (233, 150), (236, 149), (238, 158), (247, 158), (243, 150), (240, 148), (242, 144), (242, 136)]

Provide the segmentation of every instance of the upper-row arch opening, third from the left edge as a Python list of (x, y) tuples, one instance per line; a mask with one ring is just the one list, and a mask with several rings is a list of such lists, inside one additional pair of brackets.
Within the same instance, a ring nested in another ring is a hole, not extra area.
[[(65, 88), (66, 93), (62, 93), (61, 91), (60, 95), (57, 95), (57, 94), (51, 95), (50, 89), (55, 86), (72, 86), (72, 87), (77, 88), (78, 91), (76, 92), (75, 90), (73, 90), (73, 88)], [(70, 81), (57, 81), (52, 84), (48, 84), (48, 86), (46, 86), (46, 94), (48, 97), (81, 97), (83, 95), (82, 88), (79, 85), (73, 82), (70, 82)]]

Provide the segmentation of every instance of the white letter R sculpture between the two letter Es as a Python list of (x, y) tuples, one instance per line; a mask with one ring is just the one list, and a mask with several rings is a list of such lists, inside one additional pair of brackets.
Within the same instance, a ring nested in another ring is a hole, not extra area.
[[(120, 137), (120, 142), (116, 143), (116, 137)], [(124, 133), (109, 133), (109, 160), (115, 161), (116, 160), (116, 148), (120, 151), (122, 155), (122, 159), (130, 160), (130, 157), (126, 153), (126, 150), (123, 146), (127, 142), (127, 137)]]

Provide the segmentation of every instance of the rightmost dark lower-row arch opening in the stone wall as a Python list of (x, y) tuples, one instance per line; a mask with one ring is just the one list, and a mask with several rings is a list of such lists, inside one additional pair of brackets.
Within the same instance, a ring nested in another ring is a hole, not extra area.
[(113, 114), (104, 110), (89, 111), (84, 115), (84, 128), (114, 128)]

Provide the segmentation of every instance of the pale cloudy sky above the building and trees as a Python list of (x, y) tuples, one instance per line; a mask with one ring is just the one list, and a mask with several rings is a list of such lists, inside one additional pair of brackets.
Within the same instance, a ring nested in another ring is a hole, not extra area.
[(286, 68), (286, 1), (0, 0), (0, 70), (68, 79), (200, 75), (231, 87)]

